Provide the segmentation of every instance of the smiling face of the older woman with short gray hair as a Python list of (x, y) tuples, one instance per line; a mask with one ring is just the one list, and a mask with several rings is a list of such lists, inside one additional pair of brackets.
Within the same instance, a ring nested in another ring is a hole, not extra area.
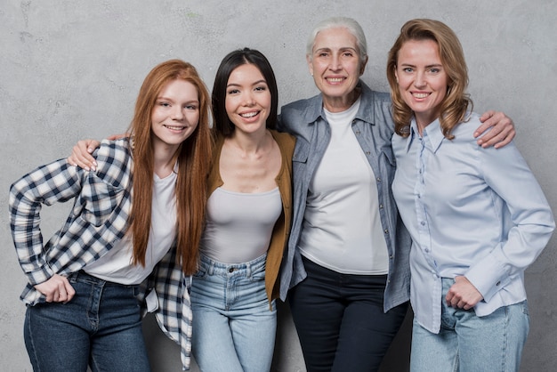
[(360, 62), (356, 36), (347, 28), (319, 31), (307, 61), (325, 108), (332, 112), (350, 108), (358, 98), (354, 89), (367, 62)]

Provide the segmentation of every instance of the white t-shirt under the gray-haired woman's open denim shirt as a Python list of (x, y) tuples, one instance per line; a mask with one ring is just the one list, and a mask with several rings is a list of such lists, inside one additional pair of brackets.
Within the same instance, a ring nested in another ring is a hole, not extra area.
[(389, 261), (375, 175), (351, 128), (359, 102), (325, 111), (331, 141), (310, 183), (299, 248), (330, 270), (381, 275)]

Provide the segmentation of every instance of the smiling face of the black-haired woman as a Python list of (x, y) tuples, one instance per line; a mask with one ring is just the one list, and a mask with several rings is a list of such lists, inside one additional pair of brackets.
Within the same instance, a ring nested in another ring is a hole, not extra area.
[(232, 70), (226, 85), (225, 107), (236, 131), (264, 131), (270, 104), (269, 87), (254, 64), (243, 64)]

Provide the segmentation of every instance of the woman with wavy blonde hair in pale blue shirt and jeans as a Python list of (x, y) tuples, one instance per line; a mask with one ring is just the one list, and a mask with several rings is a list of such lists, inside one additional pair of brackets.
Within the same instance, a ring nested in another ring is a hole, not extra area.
[(409, 20), (389, 53), (392, 182), (412, 237), (411, 370), (518, 371), (529, 332), (524, 271), (555, 222), (513, 142), (483, 149), (455, 33)]

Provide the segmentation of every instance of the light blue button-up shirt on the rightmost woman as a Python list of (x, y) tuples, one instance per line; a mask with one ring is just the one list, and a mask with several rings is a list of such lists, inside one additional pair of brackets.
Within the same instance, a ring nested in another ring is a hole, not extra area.
[(453, 130), (439, 120), (395, 134), (392, 190), (412, 237), (410, 300), (417, 321), (440, 330), (441, 278), (464, 275), (483, 300), (485, 316), (526, 299), (524, 271), (551, 238), (555, 222), (544, 192), (514, 143), (482, 149), (473, 138), (479, 116)]

